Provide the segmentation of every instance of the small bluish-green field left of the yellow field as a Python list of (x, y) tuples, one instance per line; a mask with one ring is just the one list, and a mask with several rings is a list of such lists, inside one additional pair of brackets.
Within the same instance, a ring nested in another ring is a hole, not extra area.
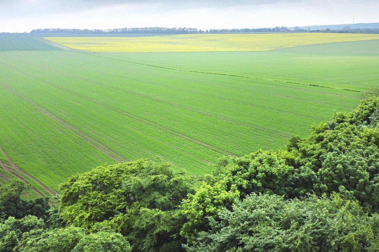
[(0, 51), (51, 51), (61, 50), (30, 35), (0, 34)]

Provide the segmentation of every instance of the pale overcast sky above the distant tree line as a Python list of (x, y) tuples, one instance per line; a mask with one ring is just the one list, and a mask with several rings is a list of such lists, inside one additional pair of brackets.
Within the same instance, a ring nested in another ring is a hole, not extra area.
[(0, 0), (0, 32), (378, 23), (378, 10), (377, 0)]

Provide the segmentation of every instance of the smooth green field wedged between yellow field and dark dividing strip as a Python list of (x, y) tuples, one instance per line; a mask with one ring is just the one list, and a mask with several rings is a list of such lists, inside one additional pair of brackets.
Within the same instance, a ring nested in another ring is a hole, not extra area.
[(378, 85), (379, 40), (260, 52), (96, 55), (185, 71), (276, 79), (337, 89), (365, 90)]

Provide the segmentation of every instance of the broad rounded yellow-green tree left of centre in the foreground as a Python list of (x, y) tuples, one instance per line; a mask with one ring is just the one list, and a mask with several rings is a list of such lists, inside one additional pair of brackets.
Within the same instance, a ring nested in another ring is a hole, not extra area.
[(61, 185), (60, 218), (86, 229), (103, 222), (134, 251), (180, 251), (185, 217), (179, 207), (194, 184), (169, 163), (148, 159), (99, 166)]

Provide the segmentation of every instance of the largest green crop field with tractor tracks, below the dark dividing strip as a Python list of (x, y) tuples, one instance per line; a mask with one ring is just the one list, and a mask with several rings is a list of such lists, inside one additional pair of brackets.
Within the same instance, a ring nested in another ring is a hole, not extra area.
[(3, 53), (2, 148), (46, 185), (117, 160), (169, 160), (190, 173), (222, 155), (280, 148), (348, 111), (355, 92), (182, 72), (70, 51)]

